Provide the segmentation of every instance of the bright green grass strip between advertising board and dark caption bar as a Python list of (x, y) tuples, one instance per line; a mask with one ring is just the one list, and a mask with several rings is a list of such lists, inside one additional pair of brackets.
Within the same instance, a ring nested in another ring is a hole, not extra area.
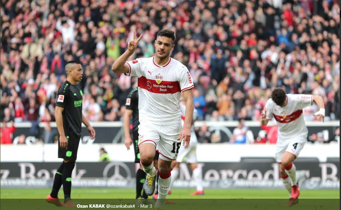
[[(45, 198), (50, 193), (50, 189), (4, 189), (0, 190), (1, 198)], [(220, 199), (220, 198), (262, 198), (262, 199), (286, 199), (288, 198), (287, 191), (283, 190), (214, 190), (206, 189), (203, 196), (190, 196), (193, 189), (174, 189), (172, 193), (168, 195), (170, 199), (178, 198), (198, 198), (198, 199)], [(63, 190), (59, 191), (59, 197), (63, 197)], [(75, 188), (72, 189), (72, 198), (79, 199), (133, 199), (135, 198), (135, 190), (133, 189), (110, 189), (110, 188)], [(302, 190), (300, 198), (306, 199), (319, 199), (319, 198), (340, 198), (339, 190)]]

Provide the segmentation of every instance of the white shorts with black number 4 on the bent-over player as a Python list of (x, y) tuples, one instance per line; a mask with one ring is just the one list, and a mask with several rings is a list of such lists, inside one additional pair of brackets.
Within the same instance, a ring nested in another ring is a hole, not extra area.
[(278, 140), (276, 144), (276, 161), (282, 162), (282, 157), (285, 152), (295, 155), (295, 159), (301, 153), (306, 142), (306, 138), (293, 138), (289, 140)]

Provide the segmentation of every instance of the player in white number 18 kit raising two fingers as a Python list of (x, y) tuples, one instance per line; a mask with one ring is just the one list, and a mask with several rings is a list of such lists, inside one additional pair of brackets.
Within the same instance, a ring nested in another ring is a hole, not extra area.
[[(154, 42), (155, 56), (126, 62), (133, 55), (142, 35), (128, 42), (128, 49), (118, 57), (112, 70), (126, 76), (138, 77), (138, 110), (140, 125), (139, 150), (143, 171), (147, 173), (144, 190), (152, 195), (155, 190), (156, 169), (153, 157), (160, 154), (158, 163), (158, 199), (154, 209), (162, 210), (170, 187), (171, 161), (175, 160), (183, 145), (189, 144), (193, 115), (193, 80), (189, 70), (181, 62), (170, 57), (174, 48), (174, 32), (161, 30)], [(181, 125), (179, 99), (181, 93), (186, 102), (184, 127)]]

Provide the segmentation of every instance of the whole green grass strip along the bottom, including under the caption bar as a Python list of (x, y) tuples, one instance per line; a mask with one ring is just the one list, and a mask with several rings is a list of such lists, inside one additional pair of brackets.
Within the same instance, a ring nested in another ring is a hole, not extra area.
[[(50, 189), (1, 189), (1, 210), (58, 210), (60, 208), (49, 204), (44, 199)], [(192, 189), (174, 189), (167, 199), (175, 204), (166, 204), (164, 210), (288, 210), (284, 204), (288, 202), (288, 193), (283, 190), (212, 190), (206, 189), (205, 195), (189, 196)], [(63, 197), (62, 190), (59, 197)], [(4, 199), (13, 198), (13, 199)], [(33, 198), (33, 199), (25, 199)], [(40, 198), (40, 199), (39, 199)], [(154, 200), (148, 199), (148, 204), (137, 204), (133, 189), (80, 189), (72, 190), (73, 202), (77, 205), (88, 205), (88, 210), (103, 210), (90, 208), (92, 204), (134, 205), (121, 210), (153, 209)], [(179, 199), (181, 198), (181, 199)], [(224, 199), (222, 199), (224, 198)], [(229, 199), (227, 199), (229, 198)], [(240, 199), (243, 198), (243, 199)], [(253, 199), (251, 199), (253, 198)], [(259, 199), (262, 198), (262, 199)], [(302, 199), (303, 198), (303, 199)], [(321, 198), (321, 199), (319, 199)], [(322, 199), (326, 198), (326, 199)], [(329, 198), (329, 199), (327, 199)], [(333, 199), (331, 199), (333, 198)], [(303, 190), (299, 204), (291, 210), (340, 210), (340, 191), (338, 190)], [(61, 199), (63, 201), (63, 199)], [(114, 207), (114, 206), (113, 206)]]

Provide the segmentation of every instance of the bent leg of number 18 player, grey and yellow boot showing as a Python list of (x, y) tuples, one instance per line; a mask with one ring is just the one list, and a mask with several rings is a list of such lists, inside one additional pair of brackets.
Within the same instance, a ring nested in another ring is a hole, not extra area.
[(140, 144), (140, 161), (143, 171), (147, 173), (143, 186), (148, 196), (152, 195), (155, 190), (156, 169), (153, 166), (153, 158), (155, 156), (155, 145), (151, 143)]

